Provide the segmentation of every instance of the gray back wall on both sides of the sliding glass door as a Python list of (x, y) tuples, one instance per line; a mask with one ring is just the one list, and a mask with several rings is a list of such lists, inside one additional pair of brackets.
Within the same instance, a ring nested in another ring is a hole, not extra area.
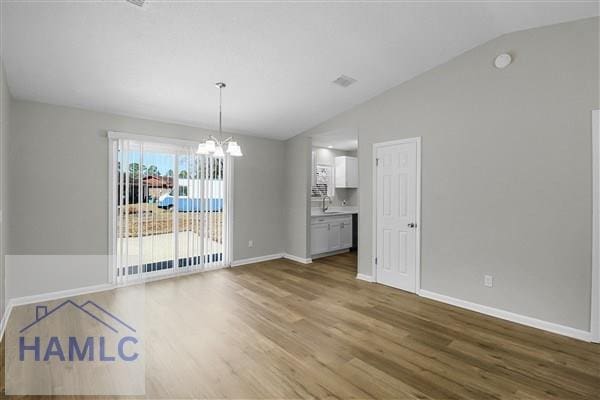
[[(107, 130), (190, 140), (208, 134), (187, 126), (19, 100), (12, 104), (11, 126), (7, 253), (12, 255), (107, 254)], [(283, 192), (272, 188), (283, 183), (284, 143), (236, 139), (244, 157), (235, 160), (234, 168), (233, 259), (281, 253)], [(250, 239), (252, 248), (247, 245)]]

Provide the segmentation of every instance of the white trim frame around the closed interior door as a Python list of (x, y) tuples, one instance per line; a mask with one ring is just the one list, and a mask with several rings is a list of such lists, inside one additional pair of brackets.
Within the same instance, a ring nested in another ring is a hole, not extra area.
[(371, 268), (372, 268), (372, 279), (373, 282), (377, 283), (377, 264), (375, 262), (377, 258), (377, 150), (381, 147), (394, 146), (398, 144), (416, 143), (417, 144), (417, 203), (416, 203), (416, 237), (415, 237), (415, 293), (421, 292), (421, 136), (391, 140), (387, 142), (373, 143), (373, 220), (371, 222), (372, 229), (372, 254), (371, 254)]

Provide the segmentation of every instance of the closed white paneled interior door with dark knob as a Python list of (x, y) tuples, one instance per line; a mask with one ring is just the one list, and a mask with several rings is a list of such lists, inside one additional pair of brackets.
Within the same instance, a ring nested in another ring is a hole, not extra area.
[(377, 145), (376, 280), (416, 292), (418, 143)]

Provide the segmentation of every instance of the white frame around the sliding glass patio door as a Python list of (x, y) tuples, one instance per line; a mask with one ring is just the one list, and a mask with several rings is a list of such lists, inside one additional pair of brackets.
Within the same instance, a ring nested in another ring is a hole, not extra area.
[[(162, 143), (166, 145), (175, 145), (175, 146), (198, 146), (198, 142), (192, 140), (185, 139), (177, 139), (177, 138), (167, 138), (162, 136), (153, 136), (153, 135), (140, 135), (134, 133), (127, 132), (119, 132), (119, 131), (108, 131), (108, 259), (109, 259), (109, 268), (108, 268), (108, 282), (117, 285), (117, 254), (116, 254), (116, 215), (114, 210), (116, 210), (117, 205), (117, 191), (115, 190), (114, 183), (116, 182), (116, 174), (117, 170), (114, 168), (115, 155), (117, 149), (117, 142), (119, 139), (127, 139), (134, 140), (140, 142), (154, 142), (154, 143)], [(223, 244), (223, 265), (217, 268), (210, 268), (208, 270), (214, 270), (218, 268), (230, 268), (231, 262), (233, 260), (233, 219), (234, 219), (234, 160), (233, 157), (225, 157), (224, 158), (225, 165), (225, 173), (227, 174), (227, 189), (226, 196), (223, 199), (223, 207), (227, 210), (226, 218), (225, 218), (225, 233), (224, 238), (225, 243)], [(189, 273), (199, 273), (204, 272), (204, 269), (191, 271)], [(160, 272), (160, 271), (157, 271)], [(132, 281), (131, 283), (143, 283), (151, 280), (157, 279), (166, 279), (173, 278), (177, 276), (181, 276), (185, 273), (151, 273), (151, 275), (140, 274), (140, 278)]]

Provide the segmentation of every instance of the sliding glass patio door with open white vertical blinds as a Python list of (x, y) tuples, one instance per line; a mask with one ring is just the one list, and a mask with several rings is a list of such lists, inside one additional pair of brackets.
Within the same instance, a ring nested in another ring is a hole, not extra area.
[(112, 260), (124, 283), (229, 265), (231, 160), (187, 143), (111, 143)]

